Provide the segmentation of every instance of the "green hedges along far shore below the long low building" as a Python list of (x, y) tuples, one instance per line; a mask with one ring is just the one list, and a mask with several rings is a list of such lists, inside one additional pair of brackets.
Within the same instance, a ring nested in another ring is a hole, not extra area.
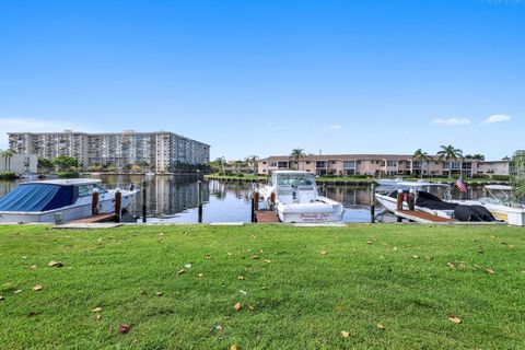
[[(264, 175), (245, 175), (245, 174), (234, 174), (234, 175), (219, 175), (219, 174), (211, 174), (205, 175), (208, 179), (219, 179), (224, 182), (240, 182), (240, 183), (266, 183), (268, 180), (268, 176)], [(394, 179), (395, 177), (387, 177), (389, 179)], [(328, 184), (328, 185), (355, 185), (355, 186), (369, 186), (374, 180), (381, 178), (375, 177), (368, 177), (364, 175), (358, 176), (319, 176), (316, 178), (317, 184)], [(383, 178), (385, 179), (385, 178)], [(418, 182), (421, 178), (416, 177), (406, 177), (404, 180), (407, 182)], [(440, 184), (448, 184), (454, 185), (457, 178), (446, 178), (446, 177), (430, 177), (423, 178), (423, 180), (428, 180), (431, 183), (440, 183)], [(495, 178), (464, 178), (464, 182), (470, 186), (482, 186), (489, 184), (501, 184), (508, 185), (509, 184), (509, 176), (501, 176)]]

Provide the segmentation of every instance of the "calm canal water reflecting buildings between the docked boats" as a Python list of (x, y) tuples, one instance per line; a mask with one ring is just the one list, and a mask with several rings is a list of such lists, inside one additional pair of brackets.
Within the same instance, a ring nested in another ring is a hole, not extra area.
[[(140, 175), (101, 175), (107, 188), (127, 188), (131, 183), (140, 185)], [(151, 176), (147, 177), (148, 221), (183, 223), (197, 222), (197, 176)], [(0, 197), (14, 189), (19, 180), (0, 182)], [(210, 180), (202, 183), (203, 222), (249, 222), (250, 198), (257, 184), (224, 183)], [(370, 188), (360, 186), (320, 186), (319, 191), (328, 198), (342, 202), (346, 222), (369, 222)], [(457, 190), (453, 191), (459, 198)], [(469, 187), (464, 199), (486, 196), (482, 187)], [(142, 199), (137, 196), (128, 208), (133, 215), (141, 214)], [(377, 211), (381, 211), (381, 206)], [(392, 221), (385, 215), (385, 221)]]

